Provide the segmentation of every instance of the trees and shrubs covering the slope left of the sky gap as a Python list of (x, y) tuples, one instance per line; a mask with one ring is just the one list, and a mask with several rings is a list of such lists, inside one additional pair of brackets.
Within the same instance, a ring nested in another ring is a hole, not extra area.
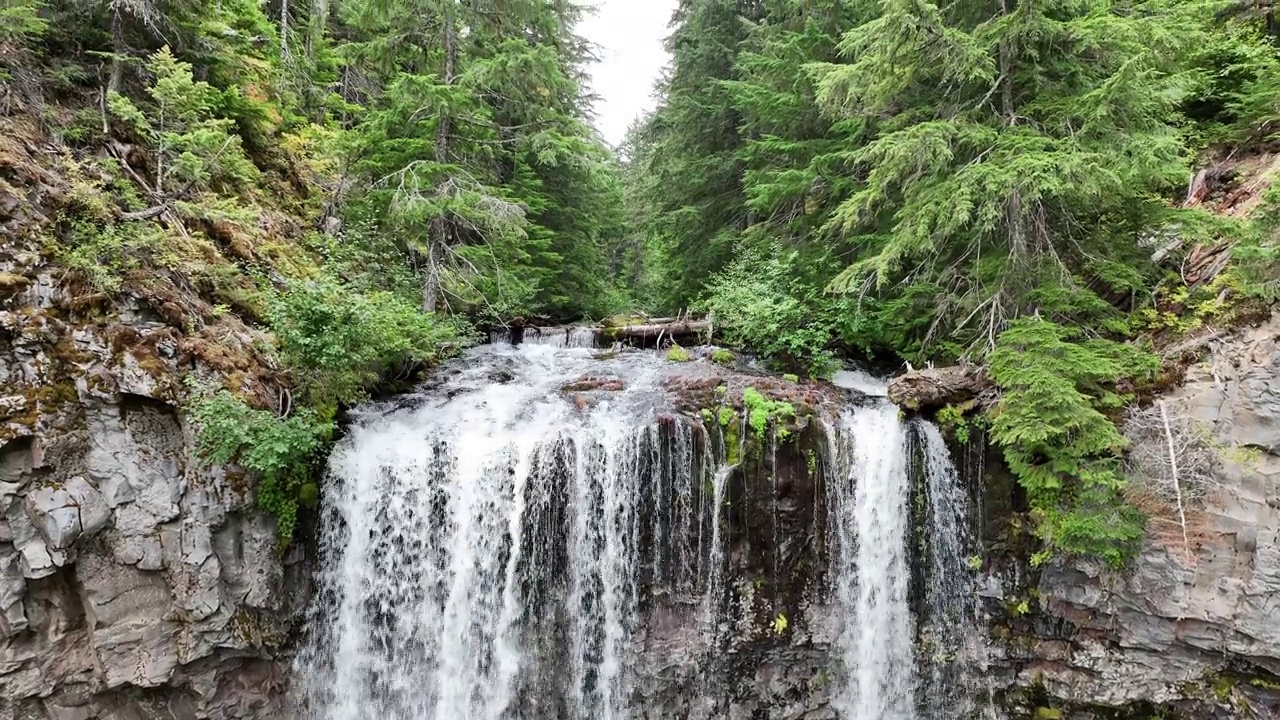
[(49, 169), (69, 184), (42, 249), (189, 338), (200, 451), (257, 479), (284, 538), (343, 406), (465, 347), (476, 323), (628, 304), (612, 282), (622, 169), (589, 124), (581, 12), (0, 9), (0, 135), (60, 145)]

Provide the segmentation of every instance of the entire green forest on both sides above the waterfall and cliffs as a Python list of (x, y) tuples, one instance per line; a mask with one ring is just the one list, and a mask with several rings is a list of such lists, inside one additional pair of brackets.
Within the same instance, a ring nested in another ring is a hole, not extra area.
[(586, 12), (6, 0), (0, 184), (56, 178), (31, 232), (86, 296), (163, 281), (210, 306), (188, 334), (262, 332), (287, 402), (234, 373), (188, 402), (284, 537), (389, 378), (516, 319), (694, 311), (780, 372), (982, 368), (938, 418), (1047, 548), (1123, 562), (1125, 407), (1280, 297), (1272, 6), (681, 0), (621, 147)]

